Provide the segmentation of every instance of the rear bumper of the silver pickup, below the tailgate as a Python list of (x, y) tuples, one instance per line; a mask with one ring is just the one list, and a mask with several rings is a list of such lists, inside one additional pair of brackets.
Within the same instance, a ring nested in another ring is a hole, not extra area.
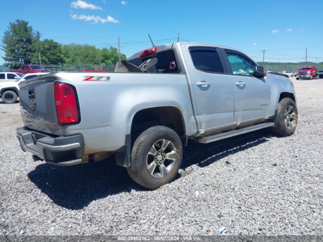
[(82, 162), (84, 139), (82, 135), (53, 137), (44, 133), (17, 129), (21, 149), (55, 165), (75, 165)]

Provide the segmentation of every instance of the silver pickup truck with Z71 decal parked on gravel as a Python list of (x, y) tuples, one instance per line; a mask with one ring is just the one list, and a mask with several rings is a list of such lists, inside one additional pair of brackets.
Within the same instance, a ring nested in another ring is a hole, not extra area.
[(297, 125), (293, 83), (239, 50), (173, 43), (143, 50), (110, 73), (52, 73), (20, 84), (21, 148), (74, 165), (115, 155), (136, 183), (172, 181), (188, 139), (210, 143)]

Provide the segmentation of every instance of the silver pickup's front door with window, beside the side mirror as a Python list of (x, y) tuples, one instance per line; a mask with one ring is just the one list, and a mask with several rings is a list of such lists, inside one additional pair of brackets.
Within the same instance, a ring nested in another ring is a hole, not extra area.
[(263, 119), (270, 104), (269, 83), (253, 75), (256, 64), (243, 53), (227, 49), (226, 55), (234, 84), (234, 122), (240, 125)]

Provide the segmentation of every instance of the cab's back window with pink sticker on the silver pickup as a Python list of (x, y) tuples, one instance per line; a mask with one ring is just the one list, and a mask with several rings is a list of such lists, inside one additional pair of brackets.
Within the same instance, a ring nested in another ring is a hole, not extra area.
[(153, 55), (144, 56), (142, 58), (136, 58), (129, 61), (129, 63), (140, 66), (141, 63), (145, 62), (150, 58), (157, 58), (156, 69), (151, 68), (148, 70), (150, 73), (177, 73), (179, 71), (178, 63), (175, 57), (174, 50), (166, 50), (154, 53)]

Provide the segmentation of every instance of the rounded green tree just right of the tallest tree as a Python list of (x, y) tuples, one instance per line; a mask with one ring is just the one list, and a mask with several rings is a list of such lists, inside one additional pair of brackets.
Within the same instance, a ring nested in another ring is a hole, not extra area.
[[(58, 65), (65, 63), (62, 45), (52, 39), (44, 39), (38, 43), (38, 52), (40, 54), (42, 65)], [(39, 63), (39, 54), (33, 58), (33, 63)]]

